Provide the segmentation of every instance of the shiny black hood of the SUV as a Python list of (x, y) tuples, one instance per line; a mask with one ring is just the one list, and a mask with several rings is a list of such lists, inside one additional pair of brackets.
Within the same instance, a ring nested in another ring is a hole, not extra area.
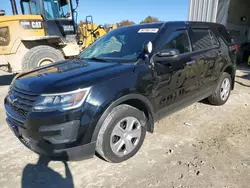
[(68, 60), (19, 74), (13, 85), (32, 93), (60, 93), (90, 87), (132, 72), (134, 64)]

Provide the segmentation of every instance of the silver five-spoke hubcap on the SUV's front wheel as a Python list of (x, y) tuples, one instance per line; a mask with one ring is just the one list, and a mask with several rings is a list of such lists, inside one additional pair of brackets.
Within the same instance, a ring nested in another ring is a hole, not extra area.
[(141, 138), (141, 123), (135, 117), (126, 117), (119, 121), (110, 137), (112, 151), (118, 156), (131, 153)]

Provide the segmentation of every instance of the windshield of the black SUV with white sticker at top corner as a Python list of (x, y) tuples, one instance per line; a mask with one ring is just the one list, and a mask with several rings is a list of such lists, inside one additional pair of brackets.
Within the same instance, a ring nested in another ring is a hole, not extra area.
[(142, 28), (142, 26), (113, 30), (88, 47), (80, 58), (136, 61), (142, 53), (144, 43), (153, 42), (158, 30), (158, 28)]

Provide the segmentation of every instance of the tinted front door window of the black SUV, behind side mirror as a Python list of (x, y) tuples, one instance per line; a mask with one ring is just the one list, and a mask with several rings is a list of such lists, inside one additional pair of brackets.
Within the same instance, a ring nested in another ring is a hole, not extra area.
[(164, 44), (163, 49), (178, 49), (180, 54), (191, 51), (190, 41), (186, 30), (173, 32)]

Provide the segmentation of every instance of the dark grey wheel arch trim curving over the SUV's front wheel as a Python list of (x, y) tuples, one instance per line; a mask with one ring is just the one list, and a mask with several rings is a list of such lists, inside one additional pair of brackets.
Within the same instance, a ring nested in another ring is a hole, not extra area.
[(97, 125), (94, 129), (92, 139), (91, 139), (92, 142), (95, 142), (97, 140), (102, 123), (106, 119), (108, 114), (112, 111), (112, 109), (114, 107), (116, 107), (120, 104), (128, 104), (128, 105), (133, 106), (139, 110), (142, 110), (148, 118), (148, 121), (146, 123), (147, 131), (153, 133), (153, 131), (154, 131), (154, 120), (153, 120), (154, 109), (153, 109), (153, 106), (151, 105), (150, 101), (146, 97), (144, 97), (140, 94), (128, 94), (128, 95), (120, 97), (119, 99), (112, 102), (108, 106), (108, 108), (104, 111), (104, 113), (102, 114), (102, 116), (98, 120)]

